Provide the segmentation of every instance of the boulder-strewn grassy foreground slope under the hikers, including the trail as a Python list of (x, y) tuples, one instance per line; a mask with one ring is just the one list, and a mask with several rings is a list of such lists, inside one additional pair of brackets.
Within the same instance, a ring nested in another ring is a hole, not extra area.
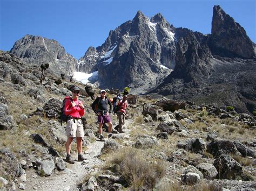
[(40, 74), (39, 66), (0, 52), (1, 189), (255, 188), (255, 117), (213, 105), (128, 95), (124, 133), (95, 143), (98, 124), (80, 83), (86, 160), (70, 166), (63, 160), (65, 124), (58, 117), (74, 83), (46, 72), (41, 84)]

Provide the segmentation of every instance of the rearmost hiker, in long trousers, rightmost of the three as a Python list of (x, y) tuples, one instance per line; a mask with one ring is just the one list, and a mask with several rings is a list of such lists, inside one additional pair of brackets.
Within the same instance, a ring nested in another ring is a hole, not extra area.
[(118, 131), (119, 131), (119, 133), (123, 132), (122, 128), (125, 123), (126, 108), (128, 107), (128, 102), (126, 99), (127, 99), (127, 95), (124, 95), (123, 100), (120, 100), (118, 102), (119, 110), (117, 111), (117, 116), (118, 116)]

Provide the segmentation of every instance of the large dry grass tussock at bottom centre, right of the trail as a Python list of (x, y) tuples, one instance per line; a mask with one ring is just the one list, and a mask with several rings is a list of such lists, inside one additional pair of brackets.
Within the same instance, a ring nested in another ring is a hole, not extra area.
[(106, 166), (122, 175), (130, 189), (152, 189), (165, 174), (160, 161), (148, 162), (141, 150), (128, 147), (114, 152)]

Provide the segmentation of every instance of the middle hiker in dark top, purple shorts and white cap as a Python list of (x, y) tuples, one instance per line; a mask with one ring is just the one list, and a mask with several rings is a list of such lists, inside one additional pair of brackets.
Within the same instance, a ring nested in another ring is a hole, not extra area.
[[(107, 109), (107, 104), (110, 106), (109, 110)], [(113, 106), (109, 98), (106, 97), (106, 90), (100, 90), (100, 97), (97, 97), (96, 100), (92, 103), (92, 109), (98, 116), (100, 140), (104, 140), (104, 136), (102, 134), (102, 126), (104, 123), (109, 125), (108, 137), (110, 138), (112, 136), (112, 121), (110, 114), (113, 110)]]

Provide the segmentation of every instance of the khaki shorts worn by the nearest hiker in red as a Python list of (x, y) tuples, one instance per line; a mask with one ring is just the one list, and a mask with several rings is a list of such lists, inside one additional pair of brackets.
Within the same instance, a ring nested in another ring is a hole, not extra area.
[(84, 128), (81, 119), (69, 119), (66, 122), (67, 137), (84, 137)]

